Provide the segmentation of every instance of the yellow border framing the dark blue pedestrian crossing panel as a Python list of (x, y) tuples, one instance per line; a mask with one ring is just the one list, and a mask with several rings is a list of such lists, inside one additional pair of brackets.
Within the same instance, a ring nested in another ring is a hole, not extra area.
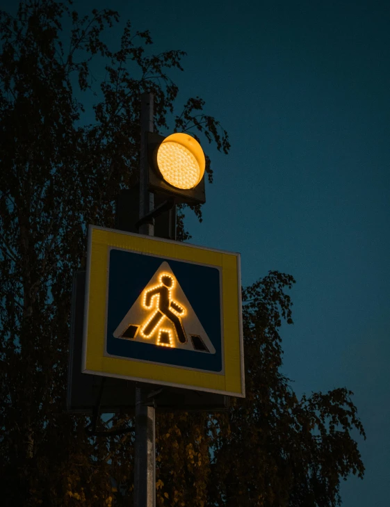
[[(131, 250), (146, 255), (216, 266), (222, 271), (222, 374), (143, 362), (104, 354), (108, 293), (108, 251)], [(83, 332), (83, 373), (125, 378), (173, 387), (245, 396), (241, 317), (240, 255), (130, 232), (90, 225)]]

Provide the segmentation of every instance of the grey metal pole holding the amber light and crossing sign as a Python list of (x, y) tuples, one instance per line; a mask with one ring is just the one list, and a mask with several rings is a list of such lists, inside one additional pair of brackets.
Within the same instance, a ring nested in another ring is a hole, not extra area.
[[(147, 132), (153, 131), (153, 94), (141, 96), (140, 218), (153, 209), (153, 194), (147, 189)], [(154, 235), (154, 225), (143, 224), (140, 234)], [(148, 406), (147, 392), (136, 388), (136, 456), (134, 507), (156, 505), (155, 409)]]

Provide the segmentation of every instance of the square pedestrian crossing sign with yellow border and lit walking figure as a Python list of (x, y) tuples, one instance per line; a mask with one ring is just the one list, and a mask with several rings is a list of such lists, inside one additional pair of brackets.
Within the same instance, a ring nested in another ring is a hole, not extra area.
[(240, 256), (90, 226), (83, 373), (244, 396)]

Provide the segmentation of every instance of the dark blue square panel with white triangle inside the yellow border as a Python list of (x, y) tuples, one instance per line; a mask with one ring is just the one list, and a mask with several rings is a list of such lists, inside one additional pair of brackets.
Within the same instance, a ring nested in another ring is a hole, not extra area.
[(221, 268), (111, 247), (105, 355), (224, 371)]

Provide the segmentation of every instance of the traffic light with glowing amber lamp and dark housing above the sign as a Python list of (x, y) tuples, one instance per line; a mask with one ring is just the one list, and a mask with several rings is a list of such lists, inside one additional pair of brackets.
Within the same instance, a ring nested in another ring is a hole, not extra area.
[(173, 197), (178, 204), (204, 204), (202, 147), (188, 134), (168, 137), (147, 133), (149, 191)]

